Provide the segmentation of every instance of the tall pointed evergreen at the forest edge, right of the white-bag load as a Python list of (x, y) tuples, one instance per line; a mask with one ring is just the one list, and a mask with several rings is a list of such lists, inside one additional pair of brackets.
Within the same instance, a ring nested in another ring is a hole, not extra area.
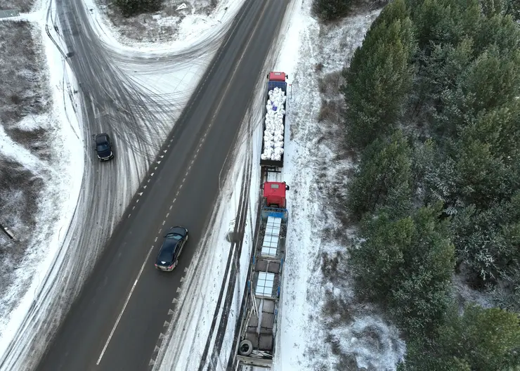
[[(389, 18), (396, 18), (401, 3), (389, 4)], [(403, 15), (404, 16), (404, 15)], [(344, 70), (346, 84), (347, 141), (365, 148), (374, 138), (393, 131), (412, 82), (409, 65), (415, 51), (409, 18), (382, 20), (370, 27), (363, 46)]]

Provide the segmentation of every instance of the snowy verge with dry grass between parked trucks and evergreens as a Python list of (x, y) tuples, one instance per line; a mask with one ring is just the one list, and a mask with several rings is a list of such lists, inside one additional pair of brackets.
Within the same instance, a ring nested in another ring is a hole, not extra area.
[(297, 2), (275, 64), (292, 78), (292, 93), (282, 173), (290, 223), (273, 368), (394, 370), (405, 346), (374, 308), (356, 303), (344, 264), (349, 225), (335, 211), (352, 169), (342, 147), (340, 72), (379, 11), (324, 26), (311, 17), (310, 0)]

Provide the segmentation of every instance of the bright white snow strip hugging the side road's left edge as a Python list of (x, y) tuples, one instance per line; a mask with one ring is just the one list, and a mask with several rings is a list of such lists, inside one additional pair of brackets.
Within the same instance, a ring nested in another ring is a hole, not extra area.
[[(42, 1), (41, 8), (48, 6), (47, 1), (50, 0)], [(34, 304), (40, 285), (57, 257), (58, 249), (65, 238), (64, 228), (69, 225), (77, 204), (83, 176), (84, 154), (77, 150), (83, 148), (83, 139), (78, 136), (81, 131), (74, 113), (75, 103), (70, 98), (73, 96), (71, 89), (75, 86), (75, 81), (63, 56), (48, 39), (44, 16), (43, 11), (37, 11), (25, 19), (37, 22), (40, 26), (41, 33), (34, 34), (34, 37), (37, 42), (42, 43), (41, 47), (45, 49), (47, 56), (48, 65), (42, 73), (48, 73), (53, 104), (47, 115), (25, 117), (18, 126), (24, 130), (53, 128), (54, 142), (48, 143), (48, 146), (60, 151), (60, 160), (56, 163), (42, 162), (22, 146), (9, 141), (1, 129), (1, 151), (18, 160), (27, 169), (32, 169), (37, 174), (45, 172), (46, 176), (39, 200), (34, 243), (28, 249), (31, 253), (24, 261), (25, 268), (17, 270), (15, 283), (5, 298), (13, 304), (18, 301), (18, 304), (0, 323), (0, 357), (4, 355), (27, 311)]]

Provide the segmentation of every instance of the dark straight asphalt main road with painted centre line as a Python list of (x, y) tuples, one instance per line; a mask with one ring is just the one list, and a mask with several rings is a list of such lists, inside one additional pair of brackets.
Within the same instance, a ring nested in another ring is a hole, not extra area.
[[(261, 67), (286, 3), (250, 0), (239, 12), (240, 21), (160, 151), (164, 157), (152, 164), (37, 370), (148, 370), (208, 225), (252, 90), (266, 73)], [(190, 230), (190, 241), (174, 272), (156, 271), (164, 230), (176, 224)]]

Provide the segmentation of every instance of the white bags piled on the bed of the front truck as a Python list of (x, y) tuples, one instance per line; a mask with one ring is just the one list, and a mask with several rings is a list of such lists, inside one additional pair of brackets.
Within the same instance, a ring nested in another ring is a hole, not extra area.
[(280, 88), (270, 90), (268, 95), (264, 153), (261, 154), (261, 159), (280, 161), (283, 153), (283, 116), (287, 97)]

